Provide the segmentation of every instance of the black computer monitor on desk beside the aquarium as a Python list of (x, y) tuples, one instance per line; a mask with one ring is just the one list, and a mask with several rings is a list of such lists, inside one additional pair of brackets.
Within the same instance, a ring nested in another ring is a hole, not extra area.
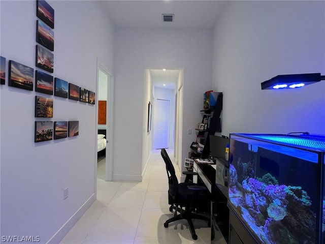
[(226, 167), (229, 161), (225, 160), (225, 147), (230, 143), (229, 138), (210, 135), (210, 155), (213, 159), (219, 159)]

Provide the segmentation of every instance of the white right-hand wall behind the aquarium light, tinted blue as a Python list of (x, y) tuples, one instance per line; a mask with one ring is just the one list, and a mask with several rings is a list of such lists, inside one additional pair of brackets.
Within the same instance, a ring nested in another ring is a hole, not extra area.
[(280, 74), (325, 75), (324, 1), (232, 1), (214, 28), (213, 84), (222, 134), (325, 134), (325, 82), (261, 90)]

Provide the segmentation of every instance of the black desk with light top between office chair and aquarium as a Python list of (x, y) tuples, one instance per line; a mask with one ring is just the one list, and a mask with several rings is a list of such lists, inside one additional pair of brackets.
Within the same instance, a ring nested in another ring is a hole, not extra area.
[[(216, 167), (219, 166), (220, 162), (217, 161), (216, 164), (200, 164), (194, 161), (193, 171), (198, 173), (199, 178), (193, 176), (193, 182), (197, 183), (201, 180), (211, 193), (211, 243), (228, 243), (230, 215), (227, 206), (228, 194), (224, 195), (224, 187), (219, 188), (220, 186), (216, 185)], [(222, 236), (217, 235), (220, 233), (218, 231), (221, 232)], [(220, 241), (220, 238), (223, 241)]]

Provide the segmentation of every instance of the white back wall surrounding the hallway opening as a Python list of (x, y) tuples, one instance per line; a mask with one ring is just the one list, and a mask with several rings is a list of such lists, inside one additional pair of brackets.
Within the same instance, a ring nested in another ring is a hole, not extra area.
[[(113, 179), (141, 180), (145, 69), (184, 68), (184, 125), (192, 130), (202, 117), (203, 93), (212, 81), (212, 30), (116, 28), (114, 52)], [(195, 134), (183, 133), (183, 159)], [(125, 153), (127, 151), (127, 154)]]

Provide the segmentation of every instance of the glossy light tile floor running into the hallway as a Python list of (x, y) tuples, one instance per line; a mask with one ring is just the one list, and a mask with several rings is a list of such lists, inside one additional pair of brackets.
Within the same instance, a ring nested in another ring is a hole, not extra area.
[[(167, 150), (173, 160), (173, 151)], [(173, 216), (168, 205), (168, 180), (160, 150), (152, 151), (142, 182), (105, 181), (103, 162), (98, 163), (97, 200), (61, 240), (61, 244), (210, 243), (207, 222), (194, 220), (198, 235), (191, 238), (187, 221), (164, 227)], [(179, 168), (175, 165), (177, 175)], [(224, 244), (216, 233), (215, 244)]]

